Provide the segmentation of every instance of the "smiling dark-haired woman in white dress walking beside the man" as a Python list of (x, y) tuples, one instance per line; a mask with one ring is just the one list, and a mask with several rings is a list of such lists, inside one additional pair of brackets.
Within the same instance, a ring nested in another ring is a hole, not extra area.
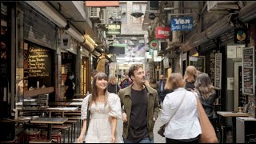
[[(120, 98), (109, 93), (106, 74), (99, 72), (94, 76), (92, 94), (82, 102), (81, 117), (84, 120), (78, 143), (121, 143), (122, 134), (117, 134), (118, 118), (122, 118)], [(86, 134), (86, 115), (90, 100), (90, 122)], [(86, 134), (86, 136), (85, 136)]]

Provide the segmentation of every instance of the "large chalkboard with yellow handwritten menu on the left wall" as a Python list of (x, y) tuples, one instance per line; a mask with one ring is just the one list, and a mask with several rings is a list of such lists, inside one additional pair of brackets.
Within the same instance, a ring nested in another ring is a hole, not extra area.
[(24, 80), (28, 87), (53, 86), (52, 66), (53, 53), (50, 49), (38, 46), (31, 42), (24, 44)]

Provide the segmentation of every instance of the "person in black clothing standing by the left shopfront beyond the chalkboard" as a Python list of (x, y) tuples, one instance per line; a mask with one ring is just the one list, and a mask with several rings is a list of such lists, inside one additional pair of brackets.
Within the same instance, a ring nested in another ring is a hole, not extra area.
[(74, 74), (73, 72), (69, 72), (67, 73), (66, 75), (66, 81), (65, 81), (65, 97), (66, 97), (66, 100), (71, 100), (72, 98), (74, 98), (74, 82), (73, 82), (73, 79), (74, 79)]

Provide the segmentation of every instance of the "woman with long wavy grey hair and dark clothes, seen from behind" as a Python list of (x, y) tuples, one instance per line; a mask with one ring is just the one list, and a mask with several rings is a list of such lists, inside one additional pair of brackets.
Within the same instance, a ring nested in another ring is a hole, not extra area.
[(198, 98), (202, 103), (210, 122), (214, 126), (215, 121), (218, 118), (216, 111), (214, 110), (214, 101), (215, 98), (218, 97), (209, 75), (206, 73), (199, 74), (194, 82), (194, 86), (194, 91), (198, 94)]

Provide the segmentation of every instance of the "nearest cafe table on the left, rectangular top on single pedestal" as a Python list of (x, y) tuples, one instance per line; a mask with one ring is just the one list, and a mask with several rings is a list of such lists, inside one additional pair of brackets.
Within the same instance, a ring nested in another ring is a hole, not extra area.
[(41, 123), (48, 125), (47, 139), (51, 139), (51, 125), (52, 124), (63, 124), (68, 118), (36, 118), (31, 123)]

